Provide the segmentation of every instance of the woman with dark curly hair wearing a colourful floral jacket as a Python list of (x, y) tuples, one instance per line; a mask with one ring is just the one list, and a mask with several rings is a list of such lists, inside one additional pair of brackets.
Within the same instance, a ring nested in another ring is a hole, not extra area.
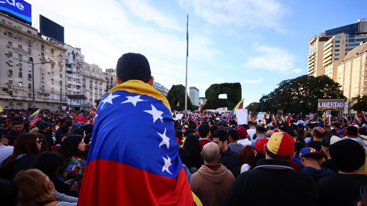
[(58, 176), (59, 180), (73, 180), (76, 176), (83, 174), (86, 168), (86, 160), (81, 153), (84, 151), (86, 144), (80, 135), (70, 135), (61, 143), (59, 152), (63, 157), (64, 171)]

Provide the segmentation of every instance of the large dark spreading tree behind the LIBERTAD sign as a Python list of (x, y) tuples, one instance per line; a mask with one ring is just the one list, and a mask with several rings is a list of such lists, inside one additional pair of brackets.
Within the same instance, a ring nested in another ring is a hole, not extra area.
[(317, 111), (318, 99), (345, 99), (340, 90), (341, 85), (325, 75), (319, 77), (303, 75), (284, 80), (278, 86), (260, 99), (260, 102), (264, 100), (264, 111), (306, 113)]

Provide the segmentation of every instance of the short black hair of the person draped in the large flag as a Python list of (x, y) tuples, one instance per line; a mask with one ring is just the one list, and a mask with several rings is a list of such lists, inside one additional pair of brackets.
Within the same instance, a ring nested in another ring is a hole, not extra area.
[(148, 83), (152, 73), (148, 59), (139, 53), (123, 54), (116, 65), (117, 78), (122, 82), (128, 80), (141, 80)]

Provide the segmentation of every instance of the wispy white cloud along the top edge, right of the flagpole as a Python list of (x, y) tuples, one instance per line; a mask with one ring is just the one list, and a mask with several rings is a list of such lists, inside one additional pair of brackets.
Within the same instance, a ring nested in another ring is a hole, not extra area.
[(268, 27), (287, 33), (280, 20), (288, 12), (277, 0), (178, 0), (181, 7), (194, 9), (197, 16), (212, 25), (236, 25), (249, 29)]

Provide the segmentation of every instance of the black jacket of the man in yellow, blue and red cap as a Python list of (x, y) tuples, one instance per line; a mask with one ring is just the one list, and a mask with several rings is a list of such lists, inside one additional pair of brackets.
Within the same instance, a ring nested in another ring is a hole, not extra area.
[(312, 206), (317, 185), (310, 174), (296, 172), (288, 161), (261, 159), (253, 170), (241, 173), (221, 205)]

